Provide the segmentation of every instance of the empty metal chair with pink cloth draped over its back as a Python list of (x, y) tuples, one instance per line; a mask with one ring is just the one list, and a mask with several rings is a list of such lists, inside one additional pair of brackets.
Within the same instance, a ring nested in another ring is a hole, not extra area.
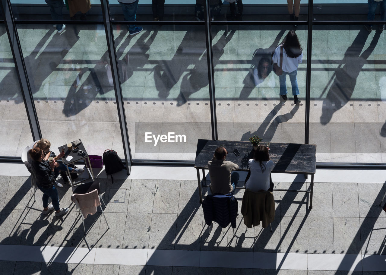
[[(86, 234), (86, 227), (85, 227), (85, 217), (84, 216), (86, 213), (85, 213), (85, 209), (82, 209), (83, 200), (90, 200), (90, 199), (93, 200), (96, 197), (98, 197), (98, 202), (97, 202), (97, 205), (95, 205), (95, 207), (97, 207), (97, 206), (100, 207), (100, 210), (102, 210), (103, 217), (105, 218), (107, 227), (108, 227), (108, 229), (110, 229), (110, 227), (108, 226), (108, 222), (107, 222), (105, 213), (103, 212), (103, 209), (102, 209), (102, 204), (100, 202), (100, 200), (102, 200), (103, 205), (105, 205), (105, 207), (106, 207), (106, 204), (103, 201), (102, 196), (100, 195), (99, 182), (83, 183), (81, 185), (77, 185), (77, 186), (73, 187), (72, 191), (73, 191), (73, 195), (71, 195), (71, 200), (75, 203), (77, 209), (80, 210), (80, 214), (82, 216), (83, 229), (85, 230), (85, 234)], [(95, 209), (95, 212), (96, 212), (96, 209)], [(95, 214), (95, 212), (92, 214)], [(91, 214), (91, 213), (89, 213), (89, 214)], [(87, 214), (86, 214), (86, 216), (87, 216)]]

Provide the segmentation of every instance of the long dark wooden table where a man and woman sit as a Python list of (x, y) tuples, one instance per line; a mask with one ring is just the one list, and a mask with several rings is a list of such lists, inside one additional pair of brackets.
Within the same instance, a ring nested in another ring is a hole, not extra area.
[[(226, 160), (232, 161), (233, 163), (239, 165), (238, 171), (249, 171), (248, 160), (253, 158), (254, 154), (254, 149), (249, 141), (198, 139), (196, 161), (194, 166), (197, 170), (200, 202), (202, 202), (200, 169), (202, 169), (203, 180), (206, 180), (205, 169), (208, 169), (208, 161), (212, 160), (215, 149), (220, 147), (222, 144), (225, 145), (225, 148), (229, 152), (229, 154), (227, 154)], [(266, 143), (262, 143), (262, 145), (266, 145)], [(239, 156), (235, 156), (235, 154), (232, 152), (232, 150), (235, 148), (239, 150)], [(312, 209), (313, 177), (316, 170), (316, 145), (298, 143), (271, 143), (269, 148), (271, 149), (269, 151), (269, 158), (273, 161), (273, 163), (275, 163), (275, 167), (273, 168), (272, 173), (303, 174), (305, 177), (306, 175), (311, 175), (310, 190), (274, 190), (310, 193), (309, 208)]]

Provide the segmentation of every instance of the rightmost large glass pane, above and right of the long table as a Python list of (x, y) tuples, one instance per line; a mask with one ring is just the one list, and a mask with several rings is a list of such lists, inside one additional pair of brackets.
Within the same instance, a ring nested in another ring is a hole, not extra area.
[(386, 162), (384, 40), (361, 25), (313, 30), (310, 143), (317, 161)]

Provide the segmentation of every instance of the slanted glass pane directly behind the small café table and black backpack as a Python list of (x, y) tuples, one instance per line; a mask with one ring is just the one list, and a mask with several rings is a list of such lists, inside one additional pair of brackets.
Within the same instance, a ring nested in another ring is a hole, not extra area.
[(42, 136), (52, 148), (81, 139), (88, 154), (122, 138), (103, 25), (17, 25)]

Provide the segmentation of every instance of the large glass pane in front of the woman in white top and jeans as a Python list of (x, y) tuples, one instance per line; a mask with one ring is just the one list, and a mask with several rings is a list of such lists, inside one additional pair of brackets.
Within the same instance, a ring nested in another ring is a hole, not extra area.
[[(294, 104), (289, 76), (288, 100), (279, 97), (279, 77), (270, 66), (271, 53), (287, 33), (287, 28), (279, 26), (213, 28), (219, 139), (248, 141), (257, 135), (263, 142), (304, 143), (304, 102)], [(298, 97), (304, 100), (307, 31), (299, 26), (296, 34), (303, 48), (303, 62), (297, 70)]]

